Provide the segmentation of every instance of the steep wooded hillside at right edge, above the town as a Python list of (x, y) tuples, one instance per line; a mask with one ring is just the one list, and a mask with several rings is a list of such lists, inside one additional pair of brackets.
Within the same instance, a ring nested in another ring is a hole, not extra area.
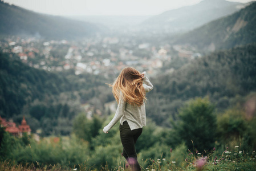
[(181, 35), (176, 44), (214, 51), (256, 42), (256, 2), (228, 17), (217, 19)]

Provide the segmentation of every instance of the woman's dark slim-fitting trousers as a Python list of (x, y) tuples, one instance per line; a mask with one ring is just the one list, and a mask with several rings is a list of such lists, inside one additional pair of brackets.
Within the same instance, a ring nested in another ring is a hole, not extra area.
[(141, 170), (139, 162), (137, 160), (137, 153), (135, 144), (137, 139), (142, 133), (142, 128), (133, 129), (129, 127), (127, 121), (124, 121), (123, 125), (119, 126), (121, 143), (123, 144), (123, 156), (131, 166), (132, 170)]

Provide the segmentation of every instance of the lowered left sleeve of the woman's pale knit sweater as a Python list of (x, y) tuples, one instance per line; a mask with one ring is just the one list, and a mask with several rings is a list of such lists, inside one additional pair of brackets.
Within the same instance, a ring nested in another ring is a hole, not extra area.
[(117, 106), (115, 116), (110, 121), (110, 123), (103, 128), (104, 133), (107, 133), (117, 123), (117, 121), (119, 121), (121, 119), (121, 117), (124, 115), (125, 105), (126, 105), (126, 103), (125, 103), (123, 97), (120, 96), (119, 104)]

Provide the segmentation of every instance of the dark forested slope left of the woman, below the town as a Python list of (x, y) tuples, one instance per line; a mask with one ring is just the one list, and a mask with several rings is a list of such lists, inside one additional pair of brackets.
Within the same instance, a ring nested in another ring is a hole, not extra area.
[(42, 135), (67, 135), (81, 103), (104, 112), (103, 104), (113, 100), (105, 83), (101, 76), (76, 76), (72, 70), (55, 74), (35, 69), (15, 54), (0, 53), (0, 115), (17, 123), (26, 116), (33, 132), (44, 128)]

